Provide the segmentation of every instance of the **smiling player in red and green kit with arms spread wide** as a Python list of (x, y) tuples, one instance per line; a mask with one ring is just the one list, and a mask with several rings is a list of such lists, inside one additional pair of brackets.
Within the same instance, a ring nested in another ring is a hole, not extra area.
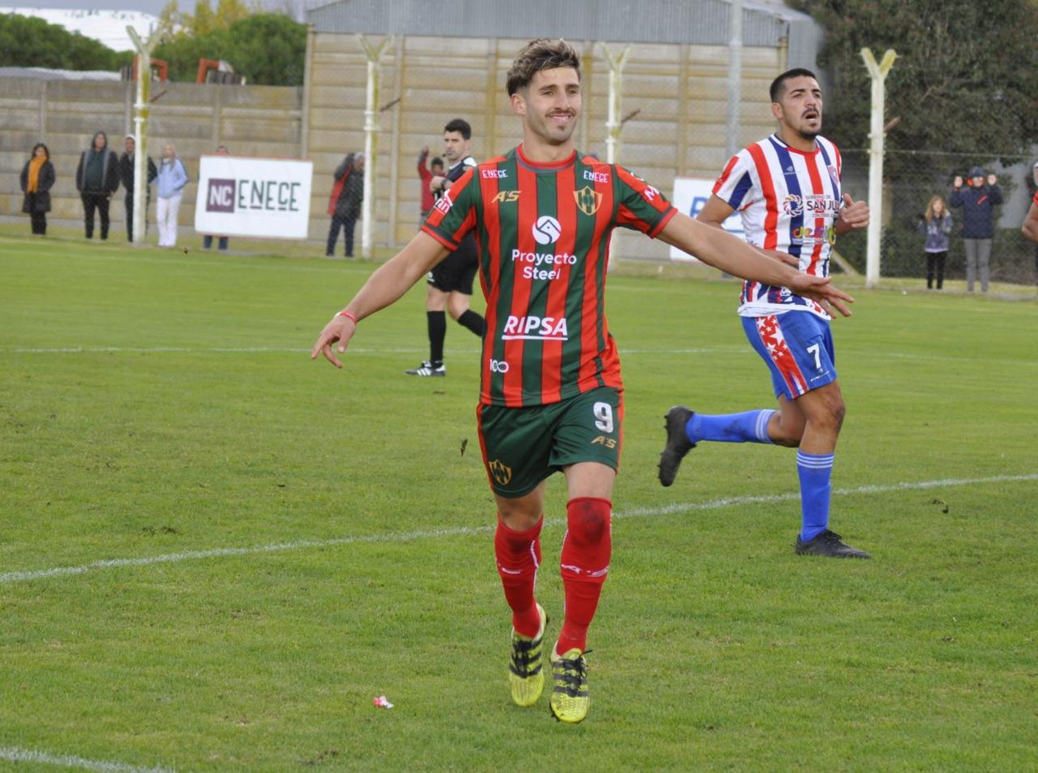
[(545, 479), (566, 476), (566, 596), (551, 648), (552, 715), (579, 722), (590, 696), (588, 628), (611, 555), (612, 487), (620, 464), (623, 381), (605, 318), (609, 236), (640, 230), (730, 274), (796, 292), (849, 314), (851, 299), (744, 242), (678, 213), (645, 181), (577, 153), (580, 60), (564, 40), (523, 48), (508, 75), (522, 144), (466, 172), (421, 230), (380, 267), (318, 337), (336, 367), (359, 321), (397, 301), (474, 233), (487, 299), (476, 418), (497, 505), (494, 552), (512, 610), (512, 699), (532, 706), (544, 686), (546, 615), (534, 595), (541, 563)]

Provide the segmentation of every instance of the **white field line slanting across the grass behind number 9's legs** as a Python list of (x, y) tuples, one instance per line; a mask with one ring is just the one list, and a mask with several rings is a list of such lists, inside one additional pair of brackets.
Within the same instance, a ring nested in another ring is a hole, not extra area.
[[(991, 477), (972, 478), (946, 478), (943, 480), (919, 480), (916, 482), (890, 484), (884, 486), (859, 486), (854, 489), (843, 489), (834, 491), (834, 496), (853, 496), (856, 494), (884, 494), (894, 491), (920, 491), (925, 489), (939, 489), (953, 486), (975, 486), (985, 484), (1021, 482), (1026, 480), (1038, 480), (1038, 472), (1027, 475), (993, 475)], [(613, 518), (657, 518), (670, 516), (678, 513), (690, 513), (693, 510), (710, 510), (719, 507), (730, 507), (740, 504), (771, 504), (774, 502), (785, 502), (799, 499), (798, 493), (771, 494), (767, 496), (745, 496), (729, 497), (725, 499), (711, 499), (707, 502), (677, 502), (661, 507), (636, 507), (634, 509), (613, 513)], [(561, 518), (545, 519), (546, 526), (564, 526), (566, 521)], [(220, 558), (223, 556), (255, 555), (258, 553), (280, 553), (288, 550), (305, 550), (308, 548), (328, 548), (338, 545), (371, 544), (371, 543), (406, 543), (415, 540), (437, 540), (444, 536), (465, 536), (469, 534), (484, 534), (490, 532), (493, 525), (484, 526), (456, 526), (443, 529), (422, 529), (418, 531), (397, 531), (385, 534), (358, 534), (353, 536), (338, 536), (330, 540), (296, 540), (285, 543), (273, 543), (270, 545), (253, 545), (244, 548), (212, 548), (210, 550), (188, 550), (183, 553), (166, 553), (164, 555), (142, 556), (139, 558), (109, 558), (102, 561), (82, 563), (78, 567), (53, 567), (51, 569), (37, 569), (28, 572), (5, 572), (0, 574), (0, 584), (11, 582), (23, 582), (26, 580), (42, 580), (51, 577), (67, 577), (70, 575), (84, 575), (88, 572), (97, 572), (105, 569), (117, 569), (120, 567), (148, 567), (156, 563), (179, 563), (200, 558)]]

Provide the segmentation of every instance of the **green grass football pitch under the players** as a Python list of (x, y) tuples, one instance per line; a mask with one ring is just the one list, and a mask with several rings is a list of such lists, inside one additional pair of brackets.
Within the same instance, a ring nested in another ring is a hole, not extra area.
[(404, 377), (417, 287), (308, 359), (374, 266), (0, 236), (0, 770), (1038, 767), (1038, 304), (853, 288), (832, 527), (874, 560), (834, 561), (793, 554), (791, 449), (656, 481), (671, 405), (773, 403), (735, 282), (610, 277), (623, 468), (564, 726), (509, 699), (475, 339)]

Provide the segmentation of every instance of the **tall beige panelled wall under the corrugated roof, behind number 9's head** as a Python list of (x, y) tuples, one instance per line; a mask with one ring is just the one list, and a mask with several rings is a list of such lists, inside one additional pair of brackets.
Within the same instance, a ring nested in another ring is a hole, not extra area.
[[(371, 36), (377, 45), (383, 38)], [(394, 37), (381, 58), (376, 163), (375, 244), (406, 243), (416, 228), (419, 190), (415, 161), (422, 145), (440, 149), (443, 126), (455, 117), (472, 125), (477, 160), (508, 150), (521, 139), (504, 78), (519, 39)], [(583, 113), (577, 147), (606, 156), (609, 66), (602, 47), (572, 42), (582, 52)], [(619, 54), (619, 44), (609, 45)], [(306, 147), (315, 162), (315, 208), (323, 211), (331, 172), (343, 156), (363, 148), (367, 60), (353, 34), (315, 33), (309, 47)], [(774, 129), (768, 85), (786, 68), (783, 47), (743, 51), (742, 127), (747, 144)], [(676, 175), (715, 177), (726, 156), (728, 48), (722, 46), (632, 46), (623, 74), (625, 123), (618, 161), (664, 192)], [(623, 256), (663, 256), (666, 250), (643, 238), (620, 234)]]

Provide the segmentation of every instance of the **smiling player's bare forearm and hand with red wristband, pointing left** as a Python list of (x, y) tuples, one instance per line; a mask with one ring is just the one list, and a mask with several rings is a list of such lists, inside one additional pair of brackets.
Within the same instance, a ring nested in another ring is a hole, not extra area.
[(425, 231), (418, 231), (403, 250), (380, 266), (346, 308), (325, 325), (310, 352), (310, 359), (316, 360), (318, 355), (323, 354), (335, 367), (343, 367), (332, 353), (332, 344), (338, 341), (335, 349), (339, 354), (346, 352), (358, 321), (400, 299), (446, 255), (446, 247)]

